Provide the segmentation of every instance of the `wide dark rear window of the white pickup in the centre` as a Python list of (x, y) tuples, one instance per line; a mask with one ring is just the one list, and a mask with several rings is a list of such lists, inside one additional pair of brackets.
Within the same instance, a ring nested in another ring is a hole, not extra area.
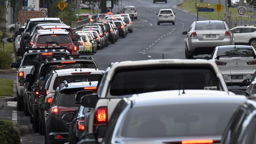
[(161, 90), (219, 90), (219, 82), (208, 67), (145, 68), (117, 71), (110, 87), (111, 96)]

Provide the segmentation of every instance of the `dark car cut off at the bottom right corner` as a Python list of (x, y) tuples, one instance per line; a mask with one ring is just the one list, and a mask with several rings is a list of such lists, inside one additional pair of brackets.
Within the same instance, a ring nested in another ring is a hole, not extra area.
[(256, 144), (256, 97), (240, 105), (222, 135), (221, 144)]

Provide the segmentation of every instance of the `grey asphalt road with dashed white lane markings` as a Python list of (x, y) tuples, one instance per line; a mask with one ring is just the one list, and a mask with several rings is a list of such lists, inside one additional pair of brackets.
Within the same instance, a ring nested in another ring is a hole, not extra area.
[[(153, 4), (153, 0), (122, 0), (122, 6), (132, 5), (137, 9), (138, 19), (134, 20), (134, 32), (128, 33), (126, 38), (120, 38), (115, 44), (109, 44), (108, 47), (93, 55), (99, 68), (105, 70), (110, 63), (118, 61), (185, 59), (182, 31), (187, 31), (196, 17), (172, 8), (179, 2), (179, 0), (167, 0), (167, 4)], [(176, 13), (175, 25), (157, 25), (156, 13), (164, 8), (172, 8)], [(113, 9), (113, 13), (116, 12), (118, 7)], [(199, 18), (199, 20), (202, 19)], [(198, 55), (195, 58), (203, 56), (205, 55)], [(15, 77), (12, 76), (12, 78)], [(0, 111), (0, 117), (6, 120), (18, 118), (18, 126), (22, 129), (22, 143), (44, 144), (44, 137), (33, 133), (29, 117), (24, 116), (23, 112), (17, 112), (15, 103), (11, 103), (13, 104), (11, 106), (7, 106), (7, 103), (5, 101), (0, 103), (1, 107), (4, 105), (4, 109)]]

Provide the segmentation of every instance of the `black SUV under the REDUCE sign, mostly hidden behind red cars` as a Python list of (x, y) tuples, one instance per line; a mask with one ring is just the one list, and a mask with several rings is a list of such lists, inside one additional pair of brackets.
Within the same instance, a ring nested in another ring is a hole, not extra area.
[(31, 18), (28, 19), (26, 27), (20, 28), (19, 32), (22, 34), (20, 38), (20, 55), (23, 55), (26, 47), (25, 40), (30, 37), (30, 33), (34, 26), (37, 24), (45, 24), (45, 23), (59, 23), (61, 24), (61, 20), (59, 18)]

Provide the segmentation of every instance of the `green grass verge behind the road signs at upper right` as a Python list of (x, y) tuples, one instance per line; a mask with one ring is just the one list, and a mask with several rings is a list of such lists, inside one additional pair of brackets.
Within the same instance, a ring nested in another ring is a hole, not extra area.
[[(196, 0), (185, 0), (182, 4), (177, 5), (178, 7), (180, 7), (181, 9), (190, 11), (191, 13), (197, 13), (197, 9), (195, 8), (195, 2)], [(201, 4), (202, 6), (205, 6), (207, 4), (211, 5), (211, 8), (213, 8), (216, 4), (212, 4), (212, 3), (207, 3), (207, 2), (197, 2), (197, 4)], [(229, 11), (231, 12), (231, 19), (232, 20), (241, 20), (240, 17), (237, 16), (237, 7), (229, 7)], [(224, 14), (225, 14), (225, 6), (224, 8), (220, 11), (219, 16), (220, 16), (220, 20), (224, 18)], [(205, 18), (209, 18), (211, 20), (218, 20), (218, 12), (217, 11), (213, 11), (213, 12), (198, 12), (198, 15), (205, 17)], [(248, 15), (248, 12), (246, 13), (246, 15)], [(250, 15), (254, 15), (254, 13), (249, 13)], [(242, 17), (242, 20), (250, 20), (250, 18), (248, 17)], [(252, 19), (252, 21), (256, 21), (256, 19)]]

